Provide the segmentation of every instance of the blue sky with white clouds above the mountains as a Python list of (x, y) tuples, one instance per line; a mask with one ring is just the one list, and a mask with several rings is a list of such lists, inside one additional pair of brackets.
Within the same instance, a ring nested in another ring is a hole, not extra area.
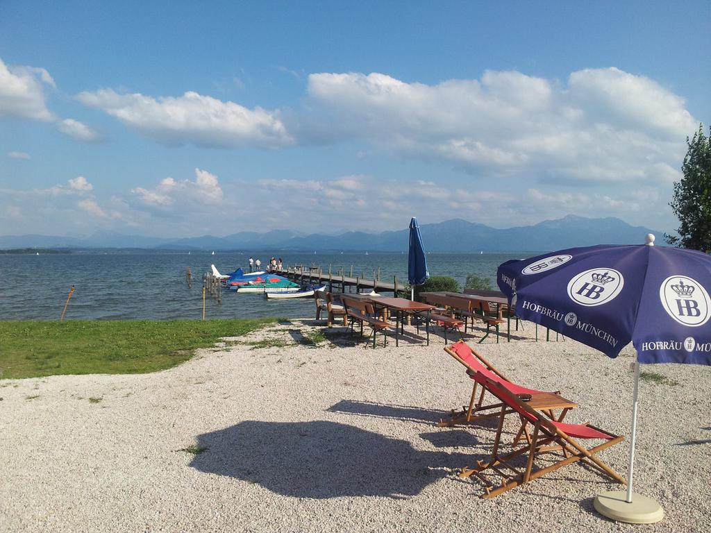
[(0, 1), (0, 235), (673, 230), (711, 2)]

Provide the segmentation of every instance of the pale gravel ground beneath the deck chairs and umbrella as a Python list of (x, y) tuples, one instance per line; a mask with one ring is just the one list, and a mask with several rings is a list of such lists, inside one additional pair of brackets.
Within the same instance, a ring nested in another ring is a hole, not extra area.
[[(640, 384), (635, 488), (666, 517), (635, 527), (594, 512), (597, 492), (622, 487), (579, 464), (493, 500), (460, 480), (493, 429), (437, 428), (471, 392), (442, 337), (427, 347), (409, 331), (373, 350), (332, 328), (314, 347), (319, 331), (286, 321), (150, 375), (0, 380), (0, 530), (711, 529), (711, 368), (643, 367), (665, 380)], [(272, 346), (245, 344), (257, 340)], [(579, 402), (567, 421), (629, 435), (631, 348), (611, 360), (525, 335), (479, 348), (516, 381)], [(627, 453), (601, 457), (624, 475)]]

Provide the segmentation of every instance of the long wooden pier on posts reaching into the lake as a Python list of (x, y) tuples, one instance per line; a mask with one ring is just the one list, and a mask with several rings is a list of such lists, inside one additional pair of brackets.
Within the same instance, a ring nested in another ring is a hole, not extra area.
[(373, 277), (368, 279), (362, 273), (361, 276), (353, 276), (352, 268), (348, 276), (343, 269), (338, 272), (324, 272), (320, 266), (287, 266), (285, 269), (274, 269), (272, 272), (302, 285), (309, 283), (326, 285), (329, 292), (360, 292), (370, 289), (375, 292), (392, 292), (395, 296), (397, 291), (405, 289), (405, 285), (397, 282), (397, 276), (392, 276), (392, 281), (383, 281), (373, 271)]

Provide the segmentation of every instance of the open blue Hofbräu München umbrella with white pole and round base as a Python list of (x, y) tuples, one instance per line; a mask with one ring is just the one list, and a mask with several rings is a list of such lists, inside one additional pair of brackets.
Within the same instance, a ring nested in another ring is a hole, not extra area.
[(711, 365), (711, 257), (647, 245), (571, 248), (498, 267), (501, 290), (516, 315), (616, 357), (637, 350), (629, 475), (624, 500), (607, 492), (602, 514), (625, 522), (656, 522), (661, 507), (632, 493), (640, 363)]

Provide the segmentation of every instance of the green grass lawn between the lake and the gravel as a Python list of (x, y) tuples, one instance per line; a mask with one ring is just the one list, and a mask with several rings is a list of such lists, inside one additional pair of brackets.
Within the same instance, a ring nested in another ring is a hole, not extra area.
[(0, 379), (155, 372), (273, 322), (0, 321)]

